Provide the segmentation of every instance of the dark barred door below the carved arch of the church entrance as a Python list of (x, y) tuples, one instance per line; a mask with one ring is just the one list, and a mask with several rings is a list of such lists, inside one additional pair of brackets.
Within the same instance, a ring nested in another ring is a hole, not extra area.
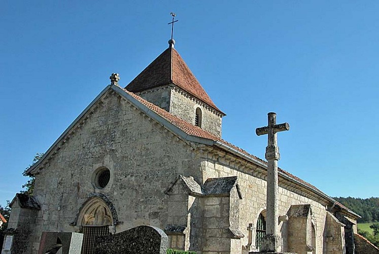
[(109, 235), (109, 226), (85, 226), (83, 227), (82, 254), (92, 254), (95, 250), (97, 236)]

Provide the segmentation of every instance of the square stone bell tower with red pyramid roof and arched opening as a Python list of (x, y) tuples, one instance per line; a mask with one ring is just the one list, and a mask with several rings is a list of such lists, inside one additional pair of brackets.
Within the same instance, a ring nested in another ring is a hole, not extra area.
[(174, 48), (174, 39), (168, 44), (125, 89), (221, 138), (225, 113), (214, 104)]

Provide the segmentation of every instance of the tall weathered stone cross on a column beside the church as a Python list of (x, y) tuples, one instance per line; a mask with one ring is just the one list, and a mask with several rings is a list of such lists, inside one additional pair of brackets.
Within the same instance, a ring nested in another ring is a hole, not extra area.
[(280, 159), (277, 142), (277, 132), (290, 130), (290, 125), (285, 122), (277, 124), (277, 114), (268, 113), (268, 125), (257, 128), (258, 136), (268, 135), (265, 158), (267, 160), (267, 219), (266, 236), (262, 240), (261, 252), (282, 251), (283, 239), (279, 236), (278, 227), (278, 161)]

